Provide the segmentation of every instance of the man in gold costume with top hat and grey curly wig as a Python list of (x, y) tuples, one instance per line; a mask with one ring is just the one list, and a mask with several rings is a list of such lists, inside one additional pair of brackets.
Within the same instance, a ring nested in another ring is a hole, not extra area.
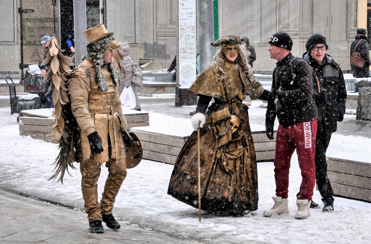
[[(69, 78), (71, 110), (78, 124), (76, 156), (82, 174), (81, 188), (88, 213), (89, 231), (103, 233), (102, 221), (118, 230), (112, 215), (116, 195), (127, 175), (125, 144), (121, 130), (127, 123), (118, 95), (119, 77), (112, 58), (118, 43), (100, 24), (84, 32), (87, 57)], [(101, 165), (108, 167), (99, 204), (97, 181)]]

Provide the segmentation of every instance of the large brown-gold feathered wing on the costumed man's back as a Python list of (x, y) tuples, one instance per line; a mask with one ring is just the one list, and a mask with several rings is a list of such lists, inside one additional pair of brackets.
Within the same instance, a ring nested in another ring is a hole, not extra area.
[[(45, 80), (52, 80), (48, 92), (53, 90), (53, 105), (55, 116), (54, 127), (50, 136), (59, 142), (59, 155), (55, 162), (55, 173), (50, 179), (56, 179), (60, 173), (58, 181), (63, 184), (63, 176), (68, 166), (75, 169), (75, 153), (73, 146), (73, 130), (77, 126), (76, 119), (71, 112), (71, 104), (68, 97), (68, 76), (71, 72), (70, 66), (73, 66), (72, 57), (62, 54), (64, 50), (59, 49), (58, 42), (52, 37), (48, 49), (44, 54), (44, 61), (41, 65), (50, 63), (50, 68), (46, 73)], [(57, 181), (57, 182), (58, 182)]]

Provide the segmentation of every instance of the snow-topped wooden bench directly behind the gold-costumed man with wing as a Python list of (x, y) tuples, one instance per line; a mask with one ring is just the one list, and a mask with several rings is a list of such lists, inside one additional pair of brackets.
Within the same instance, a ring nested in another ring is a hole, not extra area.
[[(150, 125), (149, 115), (146, 112), (125, 108), (122, 112), (128, 122), (128, 128)], [(48, 136), (53, 128), (53, 122), (53, 109), (22, 110), (19, 117), (19, 135), (57, 143), (55, 140), (51, 141), (52, 137)]]

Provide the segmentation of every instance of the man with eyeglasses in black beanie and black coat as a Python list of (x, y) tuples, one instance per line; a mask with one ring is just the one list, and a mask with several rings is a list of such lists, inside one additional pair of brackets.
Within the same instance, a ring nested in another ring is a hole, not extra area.
[[(305, 48), (307, 52), (303, 54), (303, 59), (312, 67), (313, 74), (318, 78), (313, 82), (318, 82), (318, 87), (323, 87), (326, 95), (327, 103), (325, 102), (324, 105), (319, 104), (321, 102), (315, 99), (318, 109), (316, 182), (324, 202), (322, 212), (333, 212), (334, 192), (327, 177), (326, 150), (331, 134), (336, 131), (337, 122), (344, 118), (347, 90), (340, 66), (326, 53), (328, 49), (326, 38), (321, 34), (313, 34), (306, 42)], [(319, 205), (312, 200), (311, 208), (319, 208)]]

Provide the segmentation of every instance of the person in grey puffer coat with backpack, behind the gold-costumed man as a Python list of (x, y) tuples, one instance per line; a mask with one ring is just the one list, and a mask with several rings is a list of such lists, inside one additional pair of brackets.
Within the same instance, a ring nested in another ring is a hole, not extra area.
[(131, 66), (133, 64), (133, 61), (131, 60), (131, 57), (129, 57), (130, 47), (128, 43), (119, 42), (119, 44), (121, 46), (122, 59), (119, 59), (121, 75), (120, 75), (120, 89), (118, 91), (118, 94), (121, 94), (122, 90), (124, 90), (125, 87), (131, 86), (135, 95), (135, 103), (137, 104), (135, 105), (134, 110), (141, 111), (138, 99), (138, 86), (131, 82), (131, 78), (133, 76)]

